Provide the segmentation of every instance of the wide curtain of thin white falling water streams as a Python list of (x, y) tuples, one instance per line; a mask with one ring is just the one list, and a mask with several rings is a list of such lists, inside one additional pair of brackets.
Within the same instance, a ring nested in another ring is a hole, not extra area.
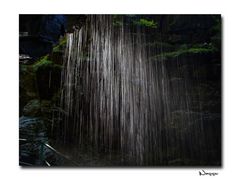
[[(67, 34), (63, 141), (90, 146), (110, 159), (118, 153), (123, 165), (167, 165), (170, 156), (201, 156), (206, 148), (199, 140), (202, 115), (191, 121), (188, 78), (172, 83), (161, 57), (152, 60), (161, 48), (147, 46), (144, 28), (121, 23), (115, 26), (112, 16), (89, 16), (84, 26)], [(188, 112), (180, 122), (173, 118), (176, 106)], [(193, 129), (185, 130), (190, 123)]]

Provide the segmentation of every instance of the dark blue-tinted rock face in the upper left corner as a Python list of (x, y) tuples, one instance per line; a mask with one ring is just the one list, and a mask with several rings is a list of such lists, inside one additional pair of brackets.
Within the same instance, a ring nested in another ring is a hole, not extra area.
[(20, 54), (28, 54), (34, 59), (51, 52), (54, 44), (65, 33), (64, 15), (20, 15)]

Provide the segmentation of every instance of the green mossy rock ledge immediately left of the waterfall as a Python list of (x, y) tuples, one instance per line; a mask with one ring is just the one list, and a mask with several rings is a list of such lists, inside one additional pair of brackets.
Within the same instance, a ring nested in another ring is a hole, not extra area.
[(62, 58), (66, 38), (53, 47), (52, 52), (31, 64), (20, 64), (20, 113), (33, 117), (51, 117), (51, 110), (59, 103)]

